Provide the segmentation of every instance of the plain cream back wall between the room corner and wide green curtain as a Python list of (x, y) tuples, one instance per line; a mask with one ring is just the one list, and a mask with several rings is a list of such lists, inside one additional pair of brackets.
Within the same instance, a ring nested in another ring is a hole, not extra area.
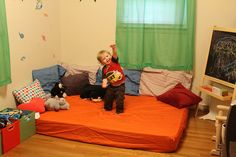
[(97, 52), (115, 42), (115, 0), (61, 0), (62, 61), (97, 65)]

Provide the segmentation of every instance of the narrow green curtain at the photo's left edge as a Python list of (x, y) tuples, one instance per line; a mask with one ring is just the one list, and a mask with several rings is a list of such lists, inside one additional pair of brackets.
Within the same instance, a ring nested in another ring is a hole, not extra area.
[(0, 86), (11, 83), (5, 0), (0, 0)]

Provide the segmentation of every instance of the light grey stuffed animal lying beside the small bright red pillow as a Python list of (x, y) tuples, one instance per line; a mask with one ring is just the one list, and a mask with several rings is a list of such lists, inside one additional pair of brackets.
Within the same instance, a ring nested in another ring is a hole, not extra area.
[(65, 98), (59, 98), (56, 96), (46, 100), (45, 108), (48, 111), (68, 110), (70, 105)]

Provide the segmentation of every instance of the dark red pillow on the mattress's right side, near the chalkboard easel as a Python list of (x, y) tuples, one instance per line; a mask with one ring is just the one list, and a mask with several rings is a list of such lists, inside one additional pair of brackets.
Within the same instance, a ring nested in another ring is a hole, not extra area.
[(178, 83), (173, 89), (157, 96), (157, 99), (177, 108), (189, 107), (198, 104), (202, 98)]

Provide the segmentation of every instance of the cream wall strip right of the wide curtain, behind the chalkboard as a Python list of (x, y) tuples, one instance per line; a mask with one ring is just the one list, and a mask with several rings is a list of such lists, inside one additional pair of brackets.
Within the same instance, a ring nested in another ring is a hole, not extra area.
[[(236, 28), (235, 0), (197, 0), (196, 58), (193, 87), (199, 86), (205, 70), (213, 26)], [(195, 88), (193, 88), (195, 91)]]

